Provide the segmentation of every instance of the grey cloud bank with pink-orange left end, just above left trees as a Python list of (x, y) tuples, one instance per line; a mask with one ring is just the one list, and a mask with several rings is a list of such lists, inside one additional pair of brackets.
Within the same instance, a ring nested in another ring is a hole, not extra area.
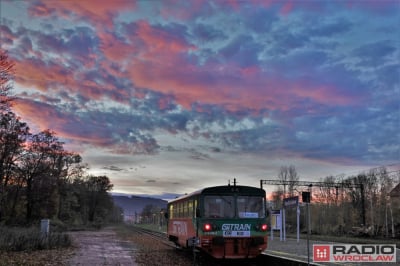
[(143, 128), (135, 128), (132, 122), (119, 126), (122, 121), (126, 121), (126, 115), (97, 112), (76, 115), (74, 110), (65, 112), (66, 109), (61, 108), (62, 105), (55, 107), (22, 98), (17, 99), (14, 107), (21, 117), (35, 121), (39, 130), (51, 128), (71, 142), (107, 147), (122, 154), (151, 154), (158, 149), (157, 141), (150, 134), (144, 133)]

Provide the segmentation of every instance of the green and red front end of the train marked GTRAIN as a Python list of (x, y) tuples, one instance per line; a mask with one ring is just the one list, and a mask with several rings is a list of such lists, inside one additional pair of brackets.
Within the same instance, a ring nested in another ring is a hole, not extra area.
[(214, 258), (255, 258), (267, 248), (265, 191), (230, 186), (203, 191), (200, 248)]

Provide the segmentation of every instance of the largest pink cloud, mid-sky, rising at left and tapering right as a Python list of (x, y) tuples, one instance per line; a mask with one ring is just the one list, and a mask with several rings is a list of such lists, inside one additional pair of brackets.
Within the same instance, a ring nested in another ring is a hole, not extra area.
[(354, 101), (338, 94), (333, 86), (299, 86), (299, 81), (268, 77), (257, 66), (193, 65), (184, 55), (195, 49), (194, 46), (146, 21), (136, 26), (130, 40), (140, 49), (126, 67), (129, 78), (136, 87), (174, 95), (187, 109), (200, 102), (222, 105), (231, 111), (242, 108), (288, 110), (293, 107), (295, 96), (328, 105)]

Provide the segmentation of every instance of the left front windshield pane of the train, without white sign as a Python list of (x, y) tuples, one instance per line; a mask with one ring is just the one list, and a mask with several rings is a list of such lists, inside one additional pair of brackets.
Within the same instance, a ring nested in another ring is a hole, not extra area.
[(205, 196), (204, 216), (209, 218), (232, 218), (235, 216), (232, 196)]

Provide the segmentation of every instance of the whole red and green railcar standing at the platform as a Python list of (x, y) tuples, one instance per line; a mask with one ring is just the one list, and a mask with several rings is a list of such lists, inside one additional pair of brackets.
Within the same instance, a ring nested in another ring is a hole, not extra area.
[(218, 259), (255, 258), (267, 248), (263, 189), (207, 187), (171, 200), (167, 208), (168, 238), (177, 246)]

